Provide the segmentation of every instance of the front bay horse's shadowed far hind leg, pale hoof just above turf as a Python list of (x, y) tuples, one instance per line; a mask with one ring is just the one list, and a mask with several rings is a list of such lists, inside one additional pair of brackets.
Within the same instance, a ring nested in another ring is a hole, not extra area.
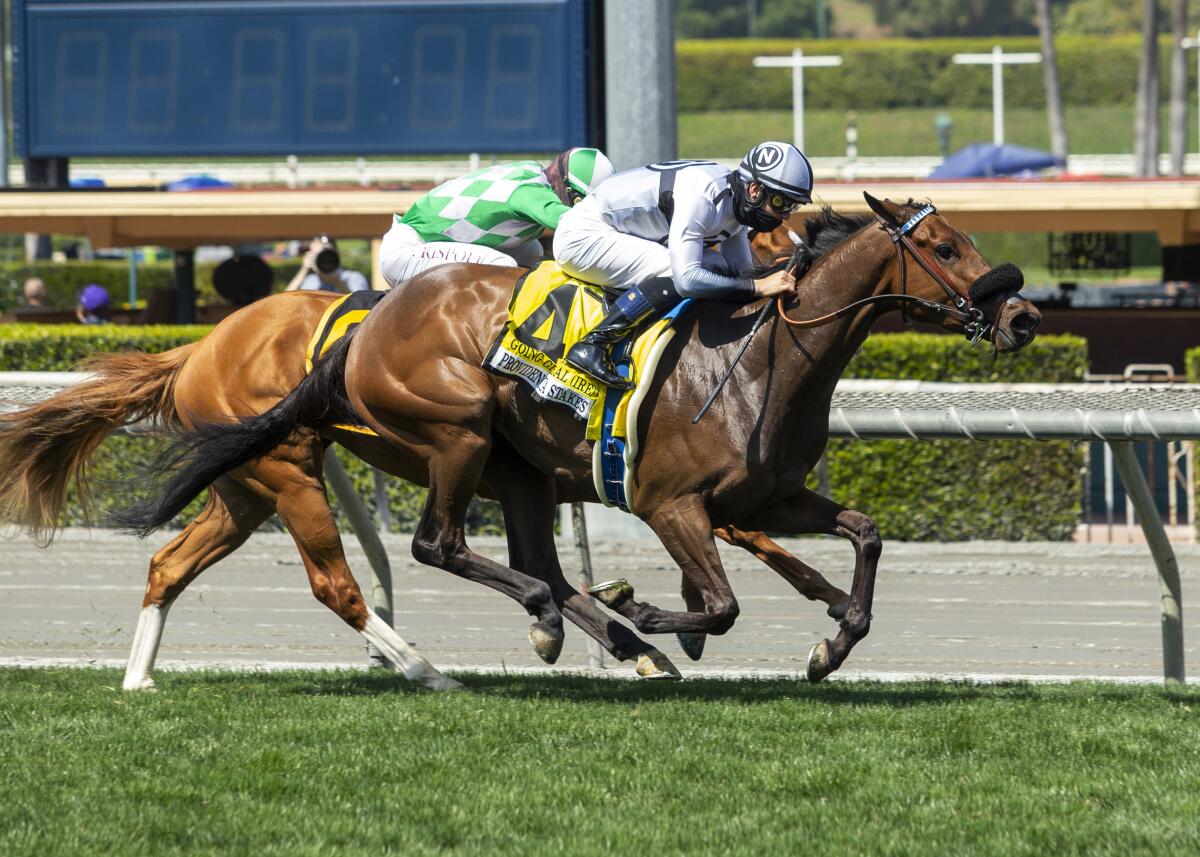
[(610, 618), (563, 575), (554, 545), (554, 483), (516, 454), (493, 449), (485, 478), (504, 507), (509, 565), (550, 585), (563, 615), (596, 640), (617, 660), (636, 660), (643, 678), (679, 678), (679, 671), (655, 647)]

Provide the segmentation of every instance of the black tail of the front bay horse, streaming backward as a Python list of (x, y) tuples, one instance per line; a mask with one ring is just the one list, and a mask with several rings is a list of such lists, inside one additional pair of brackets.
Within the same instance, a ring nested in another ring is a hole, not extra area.
[(346, 354), (353, 332), (322, 356), (300, 385), (259, 416), (238, 422), (200, 425), (181, 435), (149, 465), (142, 479), (170, 474), (157, 497), (138, 501), (110, 516), (110, 523), (145, 538), (163, 526), (218, 477), (259, 459), (300, 427), (320, 428), (335, 422), (359, 422), (346, 395)]

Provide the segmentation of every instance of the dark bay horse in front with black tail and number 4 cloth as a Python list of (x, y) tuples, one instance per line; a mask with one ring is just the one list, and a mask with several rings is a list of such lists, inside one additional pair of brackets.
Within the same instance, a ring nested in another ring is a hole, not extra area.
[[(774, 561), (773, 568), (786, 565), (803, 593), (821, 591), (810, 597), (838, 609), (836, 637), (809, 653), (810, 681), (836, 670), (869, 631), (878, 531), (863, 513), (806, 489), (805, 478), (828, 441), (838, 378), (882, 312), (899, 307), (914, 320), (986, 340), (997, 352), (1034, 337), (1040, 313), (1020, 296), (1018, 269), (990, 268), (932, 205), (864, 196), (874, 217), (827, 211), (810, 224), (816, 245), (822, 218), (853, 228), (816, 259), (790, 305), (780, 301), (779, 314), (749, 343), (709, 416), (692, 422), (760, 306), (698, 301), (652, 382), (638, 425), (641, 459), (631, 499), (680, 567), (688, 609), (637, 601), (623, 581), (598, 594), (643, 633), (680, 635), (689, 654), (698, 655), (703, 635), (726, 633), (738, 615), (714, 533), (750, 550), (766, 531), (827, 533), (853, 545), (846, 603), (835, 603), (845, 593), (799, 561), (758, 551)], [(792, 263), (808, 252), (808, 245), (798, 247)], [(170, 471), (161, 495), (119, 515), (120, 522), (149, 532), (204, 487), (280, 444), (360, 421), (391, 444), (388, 469), (424, 475), (430, 487), (414, 556), (517, 600), (535, 618), (535, 652), (552, 663), (562, 647), (565, 606), (565, 593), (547, 582), (562, 577), (554, 504), (598, 497), (582, 424), (565, 409), (534, 402), (515, 379), (482, 368), (518, 276), (461, 265), (408, 281), (278, 404), (233, 424), (197, 422), (180, 436), (179, 466), (157, 469)], [(797, 307), (817, 318), (796, 322), (787, 313)], [(467, 545), (467, 504), (481, 489), (504, 505), (510, 565)]]

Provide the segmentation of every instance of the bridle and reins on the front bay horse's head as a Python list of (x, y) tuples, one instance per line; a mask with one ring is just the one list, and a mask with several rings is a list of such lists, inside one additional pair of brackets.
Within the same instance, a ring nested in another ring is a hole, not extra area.
[[(912, 324), (908, 318), (908, 305), (917, 304), (918, 306), (925, 307), (930, 312), (940, 316), (947, 316), (961, 322), (964, 332), (971, 341), (971, 344), (977, 344), (982, 338), (991, 332), (991, 322), (988, 320), (983, 310), (972, 304), (970, 293), (950, 281), (950, 278), (946, 276), (941, 265), (929, 258), (929, 256), (926, 256), (911, 238), (912, 232), (917, 228), (917, 226), (925, 220), (925, 217), (936, 212), (937, 209), (934, 208), (932, 203), (929, 203), (900, 226), (894, 226), (877, 212), (875, 214), (875, 220), (878, 221), (880, 228), (888, 234), (888, 238), (892, 239), (893, 246), (896, 248), (896, 262), (900, 266), (900, 294), (877, 294), (871, 298), (864, 298), (863, 300), (856, 300), (853, 304), (844, 306), (840, 310), (835, 310), (834, 312), (824, 316), (800, 320), (787, 317), (787, 312), (784, 307), (784, 295), (779, 295), (776, 299), (779, 317), (793, 328), (820, 328), (839, 318), (845, 318), (846, 316), (850, 316), (870, 304), (892, 301), (900, 305), (900, 316), (904, 318), (905, 324), (908, 325)], [(932, 300), (926, 300), (925, 298), (918, 298), (917, 295), (908, 294), (908, 269), (905, 263), (906, 250), (912, 254), (913, 260), (920, 265), (920, 268), (930, 277), (932, 277), (934, 282), (942, 287), (942, 290), (946, 292), (946, 296), (950, 299), (950, 304), (938, 304)]]

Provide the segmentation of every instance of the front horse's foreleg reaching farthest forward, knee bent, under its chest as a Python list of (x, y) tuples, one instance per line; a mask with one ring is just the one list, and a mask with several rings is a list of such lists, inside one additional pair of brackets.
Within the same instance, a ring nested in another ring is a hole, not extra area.
[(875, 571), (883, 550), (875, 522), (860, 511), (847, 509), (805, 490), (743, 522), (754, 529), (781, 533), (828, 533), (847, 539), (854, 546), (854, 577), (850, 604), (834, 640), (822, 640), (809, 653), (808, 676), (820, 682), (841, 666), (854, 645), (871, 629), (871, 603), (875, 598)]

